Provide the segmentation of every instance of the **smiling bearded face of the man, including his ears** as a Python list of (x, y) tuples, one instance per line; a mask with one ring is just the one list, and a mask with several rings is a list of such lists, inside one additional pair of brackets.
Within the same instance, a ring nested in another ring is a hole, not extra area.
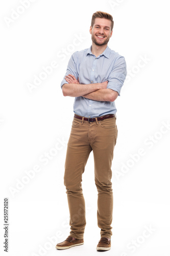
[(96, 46), (107, 45), (112, 32), (109, 19), (95, 18), (93, 27), (90, 26), (91, 39)]

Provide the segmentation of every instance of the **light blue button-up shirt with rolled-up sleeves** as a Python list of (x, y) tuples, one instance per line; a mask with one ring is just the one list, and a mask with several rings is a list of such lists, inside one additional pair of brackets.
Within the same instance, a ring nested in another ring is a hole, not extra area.
[[(82, 51), (77, 51), (69, 59), (66, 75), (72, 74), (79, 78), (81, 84), (101, 83), (108, 81), (107, 88), (118, 92), (124, 84), (127, 68), (125, 58), (108, 46), (105, 51), (95, 57), (91, 53), (91, 47)], [(65, 77), (64, 76), (64, 77)], [(65, 79), (61, 82), (61, 88)], [(115, 102), (96, 101), (86, 99), (82, 96), (76, 97), (74, 102), (74, 112), (79, 116), (98, 117), (117, 112)]]

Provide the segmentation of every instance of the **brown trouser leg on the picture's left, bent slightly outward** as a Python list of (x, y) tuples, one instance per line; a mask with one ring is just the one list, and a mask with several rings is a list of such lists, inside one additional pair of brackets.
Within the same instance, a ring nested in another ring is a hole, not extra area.
[(67, 145), (64, 185), (70, 214), (70, 236), (82, 239), (86, 225), (85, 201), (82, 191), (82, 174), (91, 152), (87, 139), (88, 124), (74, 118)]

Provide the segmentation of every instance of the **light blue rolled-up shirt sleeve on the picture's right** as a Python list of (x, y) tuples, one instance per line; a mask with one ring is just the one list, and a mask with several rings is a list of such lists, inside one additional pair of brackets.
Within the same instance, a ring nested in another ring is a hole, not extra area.
[(118, 95), (120, 96), (120, 90), (123, 87), (126, 75), (127, 75), (126, 61), (123, 56), (120, 56), (114, 62), (112, 71), (108, 78), (107, 88), (118, 92)]

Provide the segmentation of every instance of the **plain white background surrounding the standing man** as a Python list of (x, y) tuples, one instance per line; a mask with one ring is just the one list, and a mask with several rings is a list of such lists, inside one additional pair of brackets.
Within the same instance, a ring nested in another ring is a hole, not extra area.
[[(82, 183), (85, 243), (63, 251), (55, 245), (69, 235), (63, 174), (74, 102), (62, 95), (60, 82), (71, 54), (90, 47), (91, 16), (102, 10), (114, 19), (109, 47), (125, 56), (128, 68), (115, 102), (113, 236), (112, 248), (106, 253), (169, 256), (168, 1), (35, 0), (28, 8), (20, 8), (21, 2), (0, 4), (0, 254), (7, 255), (3, 248), (5, 197), (9, 198), (9, 256), (100, 253), (95, 249), (100, 229), (92, 154)], [(15, 13), (11, 21), (14, 11), (22, 13)], [(33, 84), (42, 67), (53, 61), (57, 68), (30, 91), (28, 83)], [(42, 162), (49, 152), (51, 159)], [(36, 165), (39, 172), (35, 173)], [(151, 229), (147, 238), (143, 237), (146, 228)], [(137, 244), (132, 247), (134, 240)]]

